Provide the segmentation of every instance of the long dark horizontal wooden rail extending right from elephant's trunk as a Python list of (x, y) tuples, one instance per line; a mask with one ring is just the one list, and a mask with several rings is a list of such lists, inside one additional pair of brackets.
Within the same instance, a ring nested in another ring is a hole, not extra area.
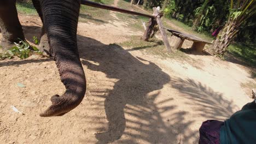
[[(0, 0), (0, 1), (1, 1), (1, 0)], [(113, 10), (113, 11), (118, 11), (118, 12), (120, 12), (120, 13), (126, 13), (126, 14), (144, 16), (144, 17), (148, 17), (148, 18), (152, 18), (152, 19), (155, 18), (153, 15), (142, 14), (142, 13), (138, 13), (138, 12), (136, 12), (136, 11), (121, 9), (121, 8), (113, 7), (113, 6), (106, 5), (106, 4), (91, 2), (91, 1), (88, 1), (88, 0), (80, 0), (80, 1), (81, 1), (81, 4), (88, 5), (88, 6), (90, 6), (90, 7), (101, 8), (101, 9), (107, 9), (107, 10)]]

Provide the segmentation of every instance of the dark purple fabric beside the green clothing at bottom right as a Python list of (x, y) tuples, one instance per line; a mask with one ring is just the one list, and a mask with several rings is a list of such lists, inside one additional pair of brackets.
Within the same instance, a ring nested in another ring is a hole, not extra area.
[(219, 133), (223, 124), (224, 122), (217, 120), (207, 120), (203, 122), (199, 129), (199, 144), (219, 144)]

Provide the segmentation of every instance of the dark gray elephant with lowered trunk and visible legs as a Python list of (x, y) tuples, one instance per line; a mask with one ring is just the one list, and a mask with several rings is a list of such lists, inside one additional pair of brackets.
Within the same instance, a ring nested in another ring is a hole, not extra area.
[[(86, 91), (85, 74), (77, 49), (80, 1), (33, 0), (32, 2), (43, 22), (41, 41), (46, 43), (49, 41), (49, 54), (53, 56), (61, 81), (66, 87), (63, 95), (51, 97), (53, 104), (40, 113), (40, 116), (62, 116), (81, 103)], [(15, 3), (16, 0), (0, 0), (0, 28), (3, 36), (0, 45), (3, 49), (8, 49), (19, 39), (25, 40)]]

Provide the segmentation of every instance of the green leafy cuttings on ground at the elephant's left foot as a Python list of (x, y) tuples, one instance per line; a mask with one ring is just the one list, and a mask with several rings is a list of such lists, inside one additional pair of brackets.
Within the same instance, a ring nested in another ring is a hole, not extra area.
[(26, 41), (20, 40), (19, 43), (14, 43), (14, 44), (15, 46), (11, 47), (10, 50), (7, 50), (4, 53), (0, 53), (1, 59), (6, 59), (6, 58), (10, 59), (10, 58), (13, 58), (14, 56), (24, 59), (24, 58), (28, 58), (32, 52), (42, 55), (42, 52), (40, 52), (37, 49), (37, 47), (31, 46)]

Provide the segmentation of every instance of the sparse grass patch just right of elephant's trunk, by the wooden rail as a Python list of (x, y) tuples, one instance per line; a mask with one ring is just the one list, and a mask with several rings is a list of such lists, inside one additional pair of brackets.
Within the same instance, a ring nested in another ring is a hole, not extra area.
[[(97, 0), (94, 1), (97, 2)], [(110, 5), (114, 3), (114, 0), (101, 0), (101, 3)], [(81, 5), (79, 21), (93, 22), (95, 24), (108, 23), (108, 21), (112, 19), (112, 16), (109, 13), (110, 11), (106, 9), (99, 9), (86, 5)]]

